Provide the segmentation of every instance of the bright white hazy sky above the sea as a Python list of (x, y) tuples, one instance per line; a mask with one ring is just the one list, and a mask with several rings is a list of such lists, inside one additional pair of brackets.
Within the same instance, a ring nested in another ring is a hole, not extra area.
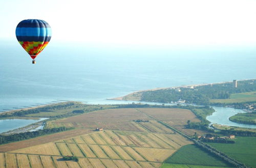
[(46, 20), (56, 41), (256, 44), (255, 0), (0, 0), (0, 38), (24, 19)]

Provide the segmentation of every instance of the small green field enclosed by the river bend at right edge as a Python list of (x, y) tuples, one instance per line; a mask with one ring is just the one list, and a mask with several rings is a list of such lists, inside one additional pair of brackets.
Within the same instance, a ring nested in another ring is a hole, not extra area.
[(239, 113), (229, 118), (230, 121), (256, 125), (256, 113)]

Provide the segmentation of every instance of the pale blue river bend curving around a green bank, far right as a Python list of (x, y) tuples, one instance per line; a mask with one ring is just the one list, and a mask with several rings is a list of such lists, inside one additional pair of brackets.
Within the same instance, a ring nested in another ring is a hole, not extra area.
[(213, 106), (212, 108), (215, 109), (215, 112), (212, 113), (211, 116), (206, 117), (206, 120), (211, 122), (210, 125), (221, 124), (221, 125), (242, 127), (242, 128), (256, 128), (256, 125), (235, 123), (229, 120), (231, 116), (234, 116), (238, 113), (246, 113), (242, 109), (236, 109), (236, 108), (230, 108), (230, 107), (215, 107), (215, 106)]

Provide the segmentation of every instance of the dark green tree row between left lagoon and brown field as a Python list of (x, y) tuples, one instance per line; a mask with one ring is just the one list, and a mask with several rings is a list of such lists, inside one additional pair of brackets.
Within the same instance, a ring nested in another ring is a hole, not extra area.
[(66, 131), (70, 129), (74, 129), (74, 128), (58, 127), (58, 128), (42, 129), (42, 130), (37, 130), (32, 132), (15, 133), (7, 136), (0, 135), (0, 144), (7, 144), (15, 141), (22, 141), (22, 140), (30, 139), (33, 137)]

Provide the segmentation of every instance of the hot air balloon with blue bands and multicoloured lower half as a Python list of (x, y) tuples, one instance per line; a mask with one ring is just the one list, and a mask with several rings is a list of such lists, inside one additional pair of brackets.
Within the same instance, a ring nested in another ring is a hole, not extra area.
[(16, 37), (19, 44), (33, 59), (32, 63), (35, 64), (35, 58), (51, 40), (52, 30), (44, 20), (27, 19), (18, 23)]

